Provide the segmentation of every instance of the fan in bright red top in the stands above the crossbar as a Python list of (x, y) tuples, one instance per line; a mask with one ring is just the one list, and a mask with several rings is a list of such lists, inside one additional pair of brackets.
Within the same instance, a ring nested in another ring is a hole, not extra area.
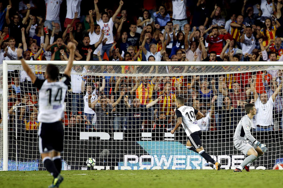
[(218, 27), (213, 27), (211, 33), (207, 36), (208, 52), (215, 51), (217, 55), (221, 54), (223, 41), (226, 39), (233, 40), (232, 36), (224, 29), (224, 34), (219, 34)]

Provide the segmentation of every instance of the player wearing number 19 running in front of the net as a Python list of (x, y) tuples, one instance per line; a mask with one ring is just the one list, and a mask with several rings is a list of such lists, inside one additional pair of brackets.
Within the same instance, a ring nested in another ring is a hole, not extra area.
[(202, 146), (201, 136), (202, 132), (199, 126), (197, 125), (197, 120), (204, 117), (202, 112), (194, 109), (193, 107), (185, 106), (185, 101), (183, 97), (176, 98), (176, 116), (177, 123), (175, 128), (171, 131), (171, 134), (177, 130), (177, 128), (182, 124), (187, 136), (188, 141), (186, 147), (198, 154), (200, 154), (207, 162), (211, 162), (215, 165), (216, 170), (220, 170), (220, 163), (216, 162), (210, 155), (208, 155)]

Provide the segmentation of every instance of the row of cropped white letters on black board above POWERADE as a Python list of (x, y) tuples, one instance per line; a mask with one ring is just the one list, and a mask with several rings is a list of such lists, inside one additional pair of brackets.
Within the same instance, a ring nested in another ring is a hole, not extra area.
[[(154, 133), (141, 133), (140, 139), (141, 140), (152, 140)], [(164, 140), (175, 140), (175, 134), (171, 133), (164, 133), (163, 138)], [(80, 132), (80, 140), (89, 140), (90, 137), (98, 137), (100, 140), (109, 140), (110, 134), (105, 132)], [(114, 132), (113, 133), (113, 140), (123, 140), (125, 135), (123, 132)]]

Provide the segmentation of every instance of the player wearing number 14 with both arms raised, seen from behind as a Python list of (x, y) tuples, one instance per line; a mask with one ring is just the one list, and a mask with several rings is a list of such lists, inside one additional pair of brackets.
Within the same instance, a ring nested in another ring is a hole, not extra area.
[[(68, 43), (70, 50), (69, 61), (64, 71), (63, 78), (57, 81), (59, 76), (58, 68), (48, 64), (45, 70), (45, 80), (39, 80), (22, 56), (23, 50), (18, 48), (17, 55), (21, 64), (30, 76), (34, 86), (39, 90), (38, 129), (39, 152), (45, 168), (53, 175), (53, 183), (49, 187), (59, 187), (63, 181), (60, 175), (62, 161), (60, 153), (63, 152), (64, 126), (61, 121), (64, 112), (64, 99), (68, 89), (69, 78), (73, 66), (75, 44)], [(51, 154), (53, 160), (51, 160)]]

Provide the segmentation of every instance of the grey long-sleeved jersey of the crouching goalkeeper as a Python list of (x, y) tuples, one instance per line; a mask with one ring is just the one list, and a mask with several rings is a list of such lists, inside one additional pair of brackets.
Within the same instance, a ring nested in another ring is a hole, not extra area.
[(247, 116), (243, 116), (238, 123), (235, 133), (234, 140), (236, 139), (244, 139), (250, 140), (252, 143), (256, 141), (256, 139), (252, 136), (250, 129), (252, 128), (252, 120)]

